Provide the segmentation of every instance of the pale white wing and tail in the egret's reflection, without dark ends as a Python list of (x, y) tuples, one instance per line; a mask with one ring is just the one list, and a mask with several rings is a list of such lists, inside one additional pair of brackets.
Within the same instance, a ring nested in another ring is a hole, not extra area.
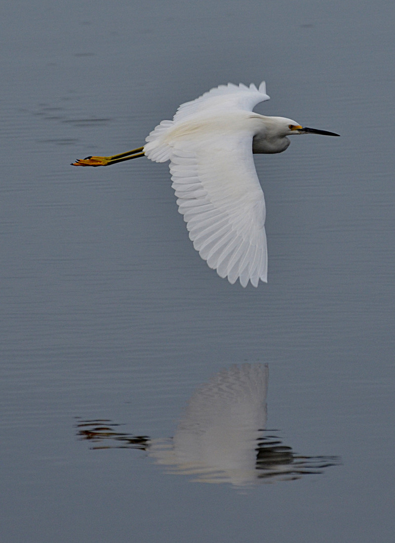
[(237, 486), (259, 481), (258, 443), (266, 426), (268, 368), (222, 370), (191, 397), (172, 443), (151, 441), (149, 454), (173, 473)]

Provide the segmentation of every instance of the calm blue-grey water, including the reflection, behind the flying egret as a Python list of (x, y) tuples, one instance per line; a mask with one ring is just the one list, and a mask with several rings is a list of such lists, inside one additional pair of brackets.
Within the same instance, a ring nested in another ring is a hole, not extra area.
[[(392, 541), (393, 2), (1, 17), (1, 540)], [(267, 285), (200, 259), (167, 165), (69, 166), (262, 79), (341, 134), (256, 157)]]

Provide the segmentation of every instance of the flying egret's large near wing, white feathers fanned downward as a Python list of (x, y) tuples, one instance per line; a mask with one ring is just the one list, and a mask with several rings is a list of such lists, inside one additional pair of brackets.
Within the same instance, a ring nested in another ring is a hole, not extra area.
[(193, 246), (210, 268), (245, 287), (267, 280), (265, 199), (252, 132), (211, 131), (171, 143), (170, 172)]

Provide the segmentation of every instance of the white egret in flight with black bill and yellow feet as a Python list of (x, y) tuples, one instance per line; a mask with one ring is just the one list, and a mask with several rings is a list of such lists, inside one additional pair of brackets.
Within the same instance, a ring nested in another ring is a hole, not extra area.
[(170, 160), (170, 173), (193, 247), (230, 283), (243, 287), (267, 281), (265, 199), (253, 153), (281, 153), (287, 136), (333, 132), (302, 127), (284, 117), (252, 110), (268, 100), (263, 81), (221, 85), (181, 104), (172, 121), (162, 121), (146, 144), (113, 156), (88, 156), (73, 166), (110, 166), (147, 156)]

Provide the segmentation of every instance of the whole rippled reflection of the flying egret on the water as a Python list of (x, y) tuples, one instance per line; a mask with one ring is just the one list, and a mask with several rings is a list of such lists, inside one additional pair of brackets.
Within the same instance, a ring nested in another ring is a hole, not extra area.
[(233, 365), (192, 395), (173, 438), (119, 431), (111, 420), (79, 420), (92, 449), (140, 449), (166, 471), (195, 481), (246, 487), (290, 481), (340, 464), (336, 456), (302, 456), (266, 428), (268, 367)]

